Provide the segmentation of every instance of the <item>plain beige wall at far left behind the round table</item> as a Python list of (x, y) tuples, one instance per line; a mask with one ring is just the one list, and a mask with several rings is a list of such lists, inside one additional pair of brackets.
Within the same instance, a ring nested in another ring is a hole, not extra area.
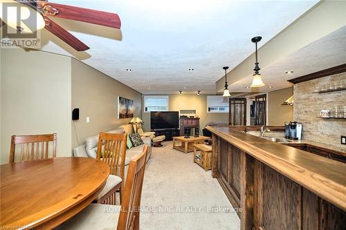
[(57, 156), (71, 155), (71, 58), (3, 49), (1, 164), (8, 163), (11, 135), (39, 133), (57, 133)]

